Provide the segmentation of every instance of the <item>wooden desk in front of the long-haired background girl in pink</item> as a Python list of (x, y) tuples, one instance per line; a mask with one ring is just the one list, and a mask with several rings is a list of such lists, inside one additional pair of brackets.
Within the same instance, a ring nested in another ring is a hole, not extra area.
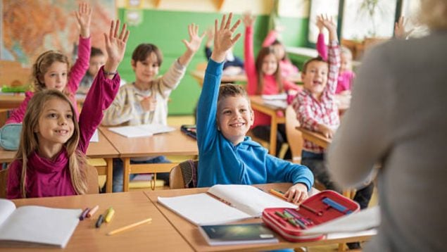
[[(265, 104), (261, 96), (250, 96), (250, 101), (253, 110), (270, 115), (272, 118), (270, 122), (270, 143), (268, 152), (275, 156), (278, 124), (286, 122), (286, 119), (284, 118), (285, 109)], [(278, 116), (278, 112), (281, 112), (283, 116)]]

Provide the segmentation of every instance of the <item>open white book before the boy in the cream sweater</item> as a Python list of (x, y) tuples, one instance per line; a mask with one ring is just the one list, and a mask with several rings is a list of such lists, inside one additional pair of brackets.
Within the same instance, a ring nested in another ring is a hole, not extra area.
[(108, 130), (124, 137), (151, 137), (154, 134), (172, 132), (175, 127), (153, 123), (150, 125), (109, 127)]

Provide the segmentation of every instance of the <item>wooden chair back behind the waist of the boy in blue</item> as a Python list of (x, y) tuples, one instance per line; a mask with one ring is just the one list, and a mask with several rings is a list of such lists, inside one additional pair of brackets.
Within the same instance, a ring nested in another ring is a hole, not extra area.
[(186, 160), (171, 169), (169, 173), (169, 188), (184, 189), (197, 187), (198, 160)]

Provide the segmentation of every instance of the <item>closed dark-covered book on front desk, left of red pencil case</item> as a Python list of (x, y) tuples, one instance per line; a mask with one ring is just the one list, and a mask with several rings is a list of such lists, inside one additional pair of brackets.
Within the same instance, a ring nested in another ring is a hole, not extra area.
[(211, 246), (278, 242), (274, 232), (262, 223), (203, 225), (199, 231)]

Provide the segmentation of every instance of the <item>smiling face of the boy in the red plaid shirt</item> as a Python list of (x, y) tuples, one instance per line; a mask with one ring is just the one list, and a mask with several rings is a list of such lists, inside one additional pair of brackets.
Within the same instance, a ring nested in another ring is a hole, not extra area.
[(325, 61), (310, 61), (305, 71), (301, 74), (303, 87), (319, 99), (327, 84), (329, 67)]

